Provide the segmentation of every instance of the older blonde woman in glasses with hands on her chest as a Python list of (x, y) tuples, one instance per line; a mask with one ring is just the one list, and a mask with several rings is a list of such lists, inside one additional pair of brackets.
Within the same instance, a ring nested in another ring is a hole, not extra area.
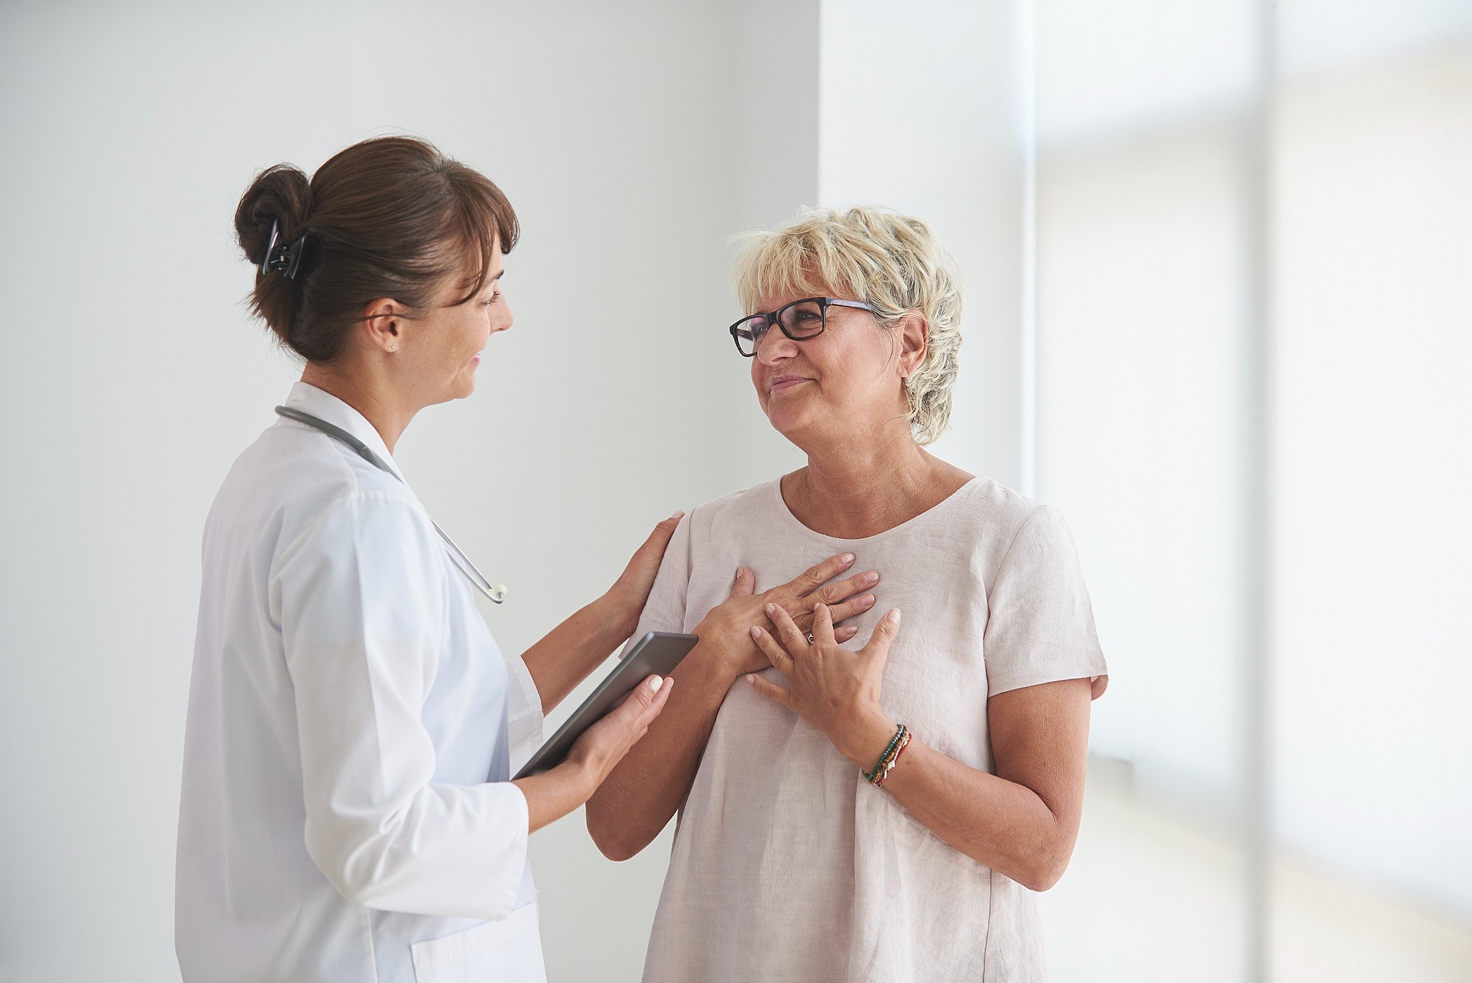
[[(855, 207), (755, 235), (735, 278), (757, 399), (808, 464), (693, 509), (640, 620), (702, 639), (587, 806), (614, 858), (680, 809), (645, 980), (1041, 979), (1030, 892), (1073, 849), (1107, 678), (1058, 512), (923, 449), (954, 263)], [(752, 617), (748, 587), (833, 552), (883, 571), (860, 639), (823, 603)]]

